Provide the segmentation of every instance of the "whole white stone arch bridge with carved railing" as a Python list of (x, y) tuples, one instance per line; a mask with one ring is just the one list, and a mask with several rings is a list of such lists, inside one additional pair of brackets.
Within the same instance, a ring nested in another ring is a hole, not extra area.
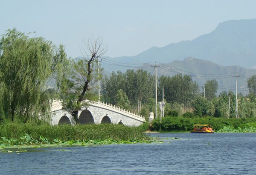
[[(75, 124), (70, 113), (62, 109), (62, 100), (51, 100), (52, 124)], [(124, 110), (112, 104), (85, 100), (88, 106), (82, 107), (78, 113), (79, 123), (112, 123), (127, 126), (139, 126), (145, 122), (143, 116)]]

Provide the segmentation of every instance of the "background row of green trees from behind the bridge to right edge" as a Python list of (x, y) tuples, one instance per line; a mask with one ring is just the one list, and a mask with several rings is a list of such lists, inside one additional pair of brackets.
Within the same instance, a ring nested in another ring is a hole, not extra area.
[[(247, 96), (239, 94), (239, 118), (256, 117), (255, 87), (256, 81), (252, 76), (248, 79), (250, 94)], [(178, 115), (192, 112), (198, 117), (236, 117), (235, 94), (232, 91), (223, 91), (216, 96), (218, 83), (215, 80), (206, 81), (204, 85), (205, 98), (204, 91), (201, 93), (197, 83), (187, 75), (160, 76), (157, 88), (159, 101), (162, 99), (162, 88), (164, 88), (165, 114), (175, 110)], [(113, 72), (110, 77), (103, 79), (102, 100), (148, 117), (149, 112), (155, 112), (154, 76), (142, 70), (128, 70), (126, 73)], [(158, 113), (160, 113), (160, 109), (158, 109)]]

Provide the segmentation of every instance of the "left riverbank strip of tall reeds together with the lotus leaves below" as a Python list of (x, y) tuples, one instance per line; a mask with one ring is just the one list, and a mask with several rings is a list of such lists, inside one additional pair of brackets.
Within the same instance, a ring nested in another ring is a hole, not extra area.
[(143, 132), (145, 128), (147, 124), (139, 127), (120, 124), (52, 126), (9, 122), (0, 125), (0, 149), (154, 142), (147, 133)]

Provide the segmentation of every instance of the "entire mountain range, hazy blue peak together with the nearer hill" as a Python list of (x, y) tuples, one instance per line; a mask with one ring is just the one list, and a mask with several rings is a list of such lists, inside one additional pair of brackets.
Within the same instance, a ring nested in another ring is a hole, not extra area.
[(248, 93), (246, 81), (256, 74), (256, 19), (229, 20), (194, 40), (152, 47), (136, 56), (106, 60), (108, 62), (102, 62), (106, 72), (125, 72), (137, 67), (136, 64), (143, 64), (140, 67), (150, 73), (153, 68), (148, 63), (156, 61), (161, 64), (158, 75), (190, 75), (200, 86), (207, 79), (216, 79), (219, 91), (234, 91), (236, 79), (233, 76), (238, 73), (240, 92)]

